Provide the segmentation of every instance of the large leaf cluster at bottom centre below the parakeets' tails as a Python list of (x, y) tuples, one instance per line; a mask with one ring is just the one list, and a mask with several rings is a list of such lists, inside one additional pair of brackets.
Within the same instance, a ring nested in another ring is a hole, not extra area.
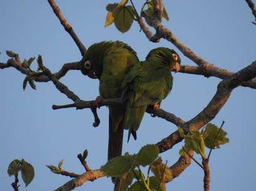
[[(172, 181), (172, 172), (158, 157), (159, 149), (156, 145), (146, 145), (139, 153), (117, 156), (100, 168), (107, 177), (122, 179), (120, 190), (165, 190), (165, 183)], [(145, 178), (140, 166), (149, 166)], [(137, 170), (136, 170), (137, 168)], [(149, 177), (149, 172), (154, 176)], [(133, 180), (136, 179), (134, 183)]]

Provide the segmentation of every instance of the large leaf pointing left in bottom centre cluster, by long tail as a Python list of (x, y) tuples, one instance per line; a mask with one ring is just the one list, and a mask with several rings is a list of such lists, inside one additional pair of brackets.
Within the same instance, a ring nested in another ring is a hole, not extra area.
[(124, 177), (135, 165), (135, 155), (125, 153), (124, 156), (117, 156), (101, 166), (100, 171), (107, 177)]

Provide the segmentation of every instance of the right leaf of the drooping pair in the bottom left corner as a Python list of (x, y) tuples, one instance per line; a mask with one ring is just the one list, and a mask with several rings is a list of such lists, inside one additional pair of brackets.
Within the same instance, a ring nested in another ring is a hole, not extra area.
[(21, 177), (27, 187), (35, 177), (35, 170), (33, 166), (27, 161), (25, 161), (24, 159), (21, 160), (21, 164), (24, 165), (23, 168), (21, 169)]

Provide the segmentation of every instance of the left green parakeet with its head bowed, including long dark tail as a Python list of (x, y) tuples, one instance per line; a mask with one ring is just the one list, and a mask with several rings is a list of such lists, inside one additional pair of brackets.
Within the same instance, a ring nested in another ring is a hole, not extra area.
[[(81, 72), (91, 78), (100, 80), (100, 96), (105, 99), (121, 97), (121, 84), (134, 63), (137, 53), (121, 41), (102, 41), (91, 45), (84, 54), (80, 64)], [(96, 99), (96, 101), (100, 99)], [(122, 155), (124, 134), (123, 119), (126, 104), (108, 106), (109, 138), (108, 160)]]

